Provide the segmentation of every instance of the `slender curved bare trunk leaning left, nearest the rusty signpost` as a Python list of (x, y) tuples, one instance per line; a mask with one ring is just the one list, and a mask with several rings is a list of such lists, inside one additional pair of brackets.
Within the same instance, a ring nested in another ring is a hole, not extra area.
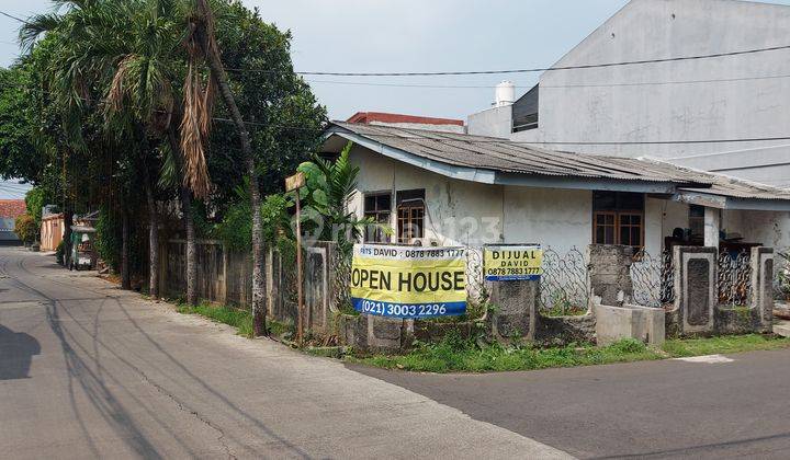
[[(199, 33), (205, 34), (205, 31), (199, 31)], [(202, 44), (207, 43), (205, 36), (201, 37)], [(205, 46), (204, 46), (205, 48)], [(208, 51), (204, 49), (204, 51)], [(211, 69), (212, 78), (214, 79), (219, 94), (225, 103), (225, 106), (230, 112), (230, 118), (236, 125), (239, 138), (241, 141), (241, 152), (244, 153), (245, 166), (247, 168), (247, 174), (250, 181), (250, 205), (252, 206), (252, 318), (255, 321), (255, 335), (268, 335), (266, 325), (266, 300), (264, 300), (264, 288), (263, 288), (263, 225), (261, 219), (260, 209), (260, 188), (258, 185), (258, 172), (256, 171), (255, 157), (252, 156), (252, 145), (249, 140), (249, 133), (247, 133), (247, 126), (245, 126), (244, 119), (241, 119), (241, 113), (236, 105), (236, 100), (230, 92), (227, 77), (225, 76), (225, 68), (223, 67), (219, 56), (214, 53), (206, 53), (206, 60), (208, 68)]]

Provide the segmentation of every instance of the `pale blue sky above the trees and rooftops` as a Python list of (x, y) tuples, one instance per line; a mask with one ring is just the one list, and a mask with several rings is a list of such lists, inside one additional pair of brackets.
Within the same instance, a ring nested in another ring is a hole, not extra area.
[[(546, 67), (584, 39), (628, 0), (242, 0), (293, 34), (294, 66), (303, 71), (455, 71)], [(790, 0), (774, 1), (790, 4)], [(2, 0), (0, 11), (26, 18), (50, 11), (49, 0)], [(0, 16), (0, 66), (19, 54), (19, 23)], [(341, 78), (308, 77), (329, 117), (394, 112), (465, 119), (490, 106), (494, 87), (537, 74)], [(340, 82), (340, 83), (338, 83)], [(394, 88), (407, 83), (476, 88)], [(341, 84), (342, 83), (342, 84)], [(357, 83), (357, 84), (353, 84)]]

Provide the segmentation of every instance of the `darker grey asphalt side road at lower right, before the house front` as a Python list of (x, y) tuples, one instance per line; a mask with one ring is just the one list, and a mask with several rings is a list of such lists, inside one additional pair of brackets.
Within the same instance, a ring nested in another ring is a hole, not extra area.
[(723, 360), (488, 375), (352, 368), (578, 458), (789, 459), (790, 350)]

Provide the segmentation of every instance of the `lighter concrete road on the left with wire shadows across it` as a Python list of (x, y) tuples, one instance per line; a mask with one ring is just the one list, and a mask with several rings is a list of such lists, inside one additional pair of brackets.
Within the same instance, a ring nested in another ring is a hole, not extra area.
[(567, 456), (0, 248), (0, 458), (416, 457)]

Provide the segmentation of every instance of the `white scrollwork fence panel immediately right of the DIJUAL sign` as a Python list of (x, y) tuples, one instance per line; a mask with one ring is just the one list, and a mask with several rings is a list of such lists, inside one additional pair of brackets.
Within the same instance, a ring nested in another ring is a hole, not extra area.
[(572, 315), (589, 307), (589, 260), (575, 246), (565, 253), (552, 248), (543, 252), (540, 310), (546, 315)]

